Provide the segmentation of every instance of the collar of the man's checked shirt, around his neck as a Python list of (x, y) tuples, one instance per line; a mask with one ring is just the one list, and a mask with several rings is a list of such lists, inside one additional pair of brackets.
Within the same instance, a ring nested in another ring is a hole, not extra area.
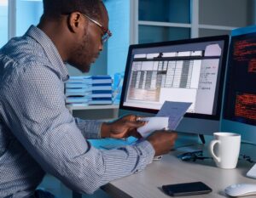
[(55, 44), (44, 33), (44, 31), (41, 31), (38, 27), (34, 25), (31, 25), (28, 31), (26, 31), (26, 36), (32, 37), (42, 46), (42, 48), (44, 48), (44, 52), (47, 55), (54, 69), (60, 71), (62, 81), (67, 81), (67, 67), (66, 65), (64, 65), (57, 48), (55, 48)]

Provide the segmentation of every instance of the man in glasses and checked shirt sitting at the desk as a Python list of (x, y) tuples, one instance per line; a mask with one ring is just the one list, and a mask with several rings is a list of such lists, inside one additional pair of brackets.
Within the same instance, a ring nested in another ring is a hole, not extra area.
[(144, 123), (137, 116), (83, 121), (67, 110), (64, 63), (89, 71), (110, 36), (100, 0), (44, 0), (38, 27), (1, 48), (0, 197), (37, 197), (45, 173), (91, 194), (172, 148), (176, 133), (159, 131), (135, 145), (97, 150), (86, 139), (137, 136)]

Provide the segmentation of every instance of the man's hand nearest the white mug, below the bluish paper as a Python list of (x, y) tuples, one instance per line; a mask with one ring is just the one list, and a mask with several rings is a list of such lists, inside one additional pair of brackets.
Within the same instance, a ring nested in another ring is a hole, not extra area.
[(172, 131), (155, 131), (147, 138), (155, 150), (154, 156), (168, 153), (172, 149), (176, 139), (177, 133)]

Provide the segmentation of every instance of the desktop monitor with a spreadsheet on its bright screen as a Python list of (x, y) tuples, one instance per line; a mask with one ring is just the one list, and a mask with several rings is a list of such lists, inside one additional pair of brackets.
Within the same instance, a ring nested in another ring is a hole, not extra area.
[(121, 110), (157, 113), (167, 101), (191, 102), (177, 131), (219, 130), (228, 36), (131, 45)]

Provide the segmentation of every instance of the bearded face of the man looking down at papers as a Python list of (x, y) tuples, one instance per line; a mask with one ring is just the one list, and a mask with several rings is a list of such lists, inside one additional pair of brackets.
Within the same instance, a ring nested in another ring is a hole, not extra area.
[[(101, 25), (108, 28), (108, 13), (102, 6), (102, 21), (99, 21)], [(84, 19), (85, 20), (85, 19)], [(87, 19), (86, 19), (87, 20)], [(98, 58), (100, 52), (103, 49), (102, 46), (102, 29), (94, 22), (88, 20), (88, 25), (84, 28), (84, 33), (79, 42), (77, 48), (73, 49), (72, 58), (67, 61), (70, 65), (73, 65), (79, 71), (90, 71), (90, 64), (94, 63)]]

